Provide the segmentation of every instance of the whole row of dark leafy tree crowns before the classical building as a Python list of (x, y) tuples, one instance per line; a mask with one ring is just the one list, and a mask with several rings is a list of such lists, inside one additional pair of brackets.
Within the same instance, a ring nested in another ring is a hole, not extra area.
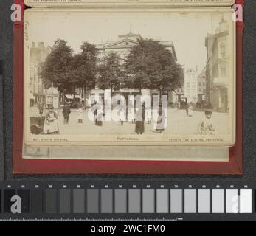
[(84, 92), (97, 84), (100, 89), (161, 89), (174, 91), (181, 87), (184, 73), (173, 54), (159, 41), (139, 39), (125, 60), (115, 52), (99, 57), (93, 44), (83, 42), (81, 52), (74, 54), (66, 41), (58, 39), (38, 75), (44, 88), (55, 86), (64, 94)]

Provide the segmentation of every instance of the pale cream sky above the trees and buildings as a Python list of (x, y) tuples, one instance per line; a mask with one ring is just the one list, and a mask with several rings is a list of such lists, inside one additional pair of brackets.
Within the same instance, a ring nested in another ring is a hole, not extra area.
[(139, 33), (142, 38), (173, 41), (178, 62), (188, 68), (204, 69), (207, 33), (215, 32), (221, 13), (32, 13), (28, 18), (29, 41), (52, 46), (64, 39), (74, 52), (83, 41), (101, 44), (115, 41), (118, 35)]

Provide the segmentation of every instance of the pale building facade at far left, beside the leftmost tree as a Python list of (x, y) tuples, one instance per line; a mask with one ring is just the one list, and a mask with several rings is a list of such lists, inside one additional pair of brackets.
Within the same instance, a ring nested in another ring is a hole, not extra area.
[(49, 46), (44, 46), (43, 42), (38, 43), (38, 46), (32, 42), (30, 48), (30, 106), (45, 103), (46, 90), (38, 77), (38, 66), (44, 62), (49, 50)]

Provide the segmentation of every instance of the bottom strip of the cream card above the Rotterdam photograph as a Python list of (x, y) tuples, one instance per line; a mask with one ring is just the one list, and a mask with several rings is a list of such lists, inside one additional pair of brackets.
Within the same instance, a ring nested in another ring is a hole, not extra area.
[(29, 7), (83, 6), (231, 6), (235, 0), (24, 0)]

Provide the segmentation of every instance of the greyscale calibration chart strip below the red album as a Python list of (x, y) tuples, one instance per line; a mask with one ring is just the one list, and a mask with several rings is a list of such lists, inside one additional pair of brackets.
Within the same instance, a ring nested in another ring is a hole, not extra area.
[[(256, 184), (60, 183), (0, 184), (0, 220), (182, 221), (187, 216), (252, 215)], [(188, 218), (187, 218), (188, 219)]]

